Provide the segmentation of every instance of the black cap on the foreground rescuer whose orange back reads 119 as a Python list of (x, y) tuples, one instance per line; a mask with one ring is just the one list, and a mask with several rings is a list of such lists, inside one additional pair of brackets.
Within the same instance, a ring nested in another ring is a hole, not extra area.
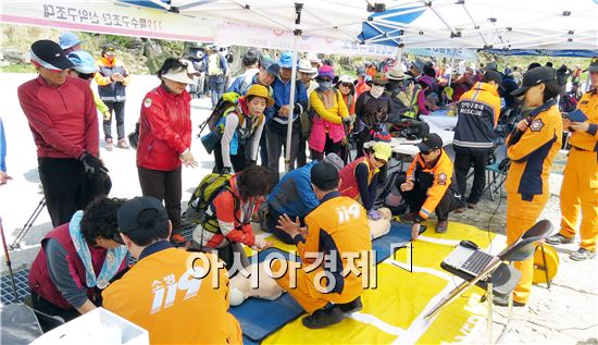
[(119, 231), (124, 234), (154, 226), (165, 220), (169, 220), (169, 213), (162, 201), (147, 196), (126, 201), (119, 209), (117, 215)]

